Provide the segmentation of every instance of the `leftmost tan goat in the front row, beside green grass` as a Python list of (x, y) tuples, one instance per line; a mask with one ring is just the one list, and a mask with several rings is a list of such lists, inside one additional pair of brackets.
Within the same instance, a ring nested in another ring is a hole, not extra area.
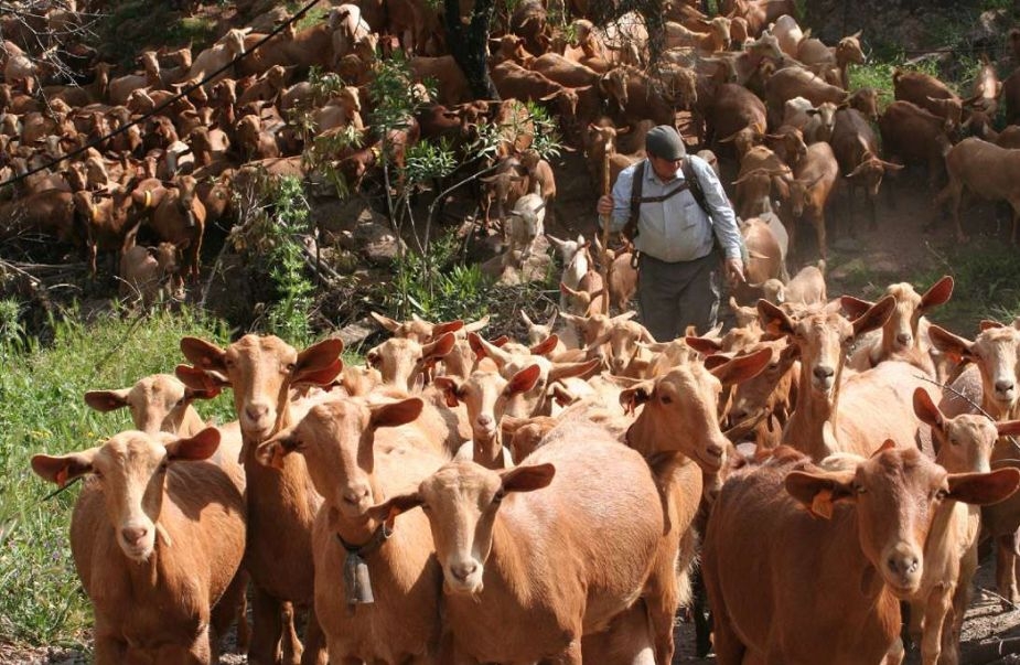
[[(92, 475), (75, 504), (71, 547), (96, 614), (95, 662), (218, 661), (245, 592), (244, 479), (204, 462), (215, 429), (178, 439), (121, 432), (98, 448), (37, 454), (32, 469), (64, 486)], [(191, 463), (185, 463), (191, 462)]]

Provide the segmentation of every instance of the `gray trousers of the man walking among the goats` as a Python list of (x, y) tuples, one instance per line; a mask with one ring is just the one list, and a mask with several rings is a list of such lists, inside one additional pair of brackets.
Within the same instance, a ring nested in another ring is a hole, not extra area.
[(716, 324), (721, 292), (719, 255), (667, 264), (646, 254), (638, 259), (641, 321), (657, 342), (669, 342), (694, 325), (705, 334)]

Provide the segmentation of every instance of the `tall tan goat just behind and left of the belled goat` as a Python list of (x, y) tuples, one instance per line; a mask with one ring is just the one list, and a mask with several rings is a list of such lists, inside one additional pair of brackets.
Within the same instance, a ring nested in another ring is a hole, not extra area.
[[(195, 367), (179, 366), (178, 377), (197, 389), (229, 385), (243, 435), (241, 459), (248, 483), (251, 526), (245, 567), (255, 584), (249, 659), (269, 663), (278, 654), (281, 605), (310, 605), (314, 596), (311, 530), (322, 497), (303, 458), (288, 457), (282, 469), (267, 469), (255, 447), (293, 425), (291, 387), (330, 385), (343, 368), (340, 340), (324, 340), (298, 353), (276, 336), (245, 335), (226, 348), (184, 337), (181, 351)], [(304, 663), (322, 663), (325, 644), (309, 616)]]

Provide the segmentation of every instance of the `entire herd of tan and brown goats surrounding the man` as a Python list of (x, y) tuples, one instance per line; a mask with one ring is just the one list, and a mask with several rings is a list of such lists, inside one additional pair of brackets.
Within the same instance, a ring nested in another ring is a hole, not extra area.
[[(749, 285), (724, 333), (654, 340), (627, 310), (626, 251), (598, 247), (614, 259), (605, 283), (589, 243), (552, 238), (560, 312), (523, 313), (526, 344), (482, 336), (484, 320), (374, 314), (391, 336), (366, 366), (345, 366), (337, 339), (184, 337), (173, 374), (87, 393), (137, 429), (32, 469), (84, 479), (71, 548), (96, 663), (215, 663), (236, 622), (254, 665), (668, 665), (677, 612), (707, 602), (699, 640), (722, 664), (893, 664), (911, 644), (954, 664), (984, 538), (998, 592), (1020, 600), (1020, 325), (971, 340), (931, 323), (951, 277), (830, 301), (824, 261), (786, 270), (788, 253), (815, 254), (798, 229), (826, 257), (834, 191), (862, 195), (873, 222), (884, 174), (912, 162), (946, 181), (935, 200), (960, 238), (967, 190), (1010, 203), (1016, 239), (1020, 128), (994, 122), (1000, 104), (1020, 117), (1020, 71), (1000, 83), (987, 61), (963, 97), (896, 69), (880, 109), (876, 90), (848, 89), (859, 33), (829, 46), (792, 0), (719, 6), (667, 2), (649, 63), (635, 12), (597, 26), (571, 0), (565, 31), (522, 2), (491, 40), (502, 101), (472, 98), (421, 0), (337, 4), (302, 30), (267, 14), (194, 55), (146, 51), (139, 73), (94, 63), (82, 85), (50, 81), (0, 17), (3, 235), (82, 248), (94, 276), (116, 254), (124, 292), (146, 302), (197, 278), (203, 234), (241, 183), (308, 175), (294, 109), (318, 136), (363, 132), (332, 155), (353, 185), (380, 146), (400, 163), (416, 141), (464, 150), (480, 124), (498, 127), (477, 194), (505, 267), (555, 208), (524, 103), (549, 106), (593, 182), (681, 110), (699, 147), (739, 163)], [(1020, 32), (1009, 41), (1020, 56)], [(379, 137), (365, 90), (395, 49), (434, 98), (422, 87), (414, 118)], [(316, 98), (311, 67), (345, 87)], [(224, 388), (237, 419), (208, 425), (193, 403)]]

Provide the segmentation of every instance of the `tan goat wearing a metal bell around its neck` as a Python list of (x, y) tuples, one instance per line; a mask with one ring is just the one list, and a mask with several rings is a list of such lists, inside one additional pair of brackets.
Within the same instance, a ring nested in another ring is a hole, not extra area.
[[(400, 426), (421, 407), (417, 397), (374, 405), (331, 400), (258, 448), (266, 464), (300, 453), (323, 496), (312, 533), (315, 615), (332, 662), (434, 662), (442, 573), (428, 519), (419, 513), (394, 524), (368, 515), (371, 506), (414, 489), (445, 461), (405, 439)], [(364, 566), (353, 584), (346, 575), (352, 561)]]

